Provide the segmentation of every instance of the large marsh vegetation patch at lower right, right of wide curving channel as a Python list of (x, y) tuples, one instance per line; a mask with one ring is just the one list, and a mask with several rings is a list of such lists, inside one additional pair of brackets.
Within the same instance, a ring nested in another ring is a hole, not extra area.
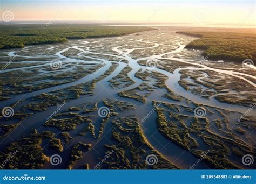
[[(153, 104), (155, 103), (157, 102), (153, 102)], [(239, 158), (239, 160), (242, 159), (243, 155), (248, 153), (255, 155), (254, 148), (244, 140), (241, 140), (240, 137), (236, 136), (227, 127), (229, 122), (225, 119), (225, 115), (221, 114), (219, 116), (224, 116), (224, 119), (213, 119), (212, 123), (220, 131), (220, 133), (215, 133), (210, 129), (211, 124), (206, 117), (197, 118), (194, 116), (179, 115), (176, 111), (179, 111), (181, 106), (177, 109), (176, 105), (163, 104), (167, 109), (163, 107), (156, 109), (158, 130), (165, 137), (173, 141), (173, 143), (180, 145), (198, 158), (207, 151), (204, 161), (209, 167), (215, 169), (241, 169), (230, 159), (231, 153), (235, 155), (235, 158)], [(191, 113), (193, 114), (192, 109)], [(168, 118), (166, 118), (166, 114), (169, 114)], [(227, 131), (223, 131), (224, 126)], [(235, 131), (244, 133), (239, 128), (235, 129)], [(223, 136), (223, 133), (225, 136)], [(194, 136), (203, 139), (203, 143), (200, 144), (204, 144), (204, 146), (199, 145), (198, 138), (195, 139)], [(200, 148), (203, 150), (200, 150)]]

